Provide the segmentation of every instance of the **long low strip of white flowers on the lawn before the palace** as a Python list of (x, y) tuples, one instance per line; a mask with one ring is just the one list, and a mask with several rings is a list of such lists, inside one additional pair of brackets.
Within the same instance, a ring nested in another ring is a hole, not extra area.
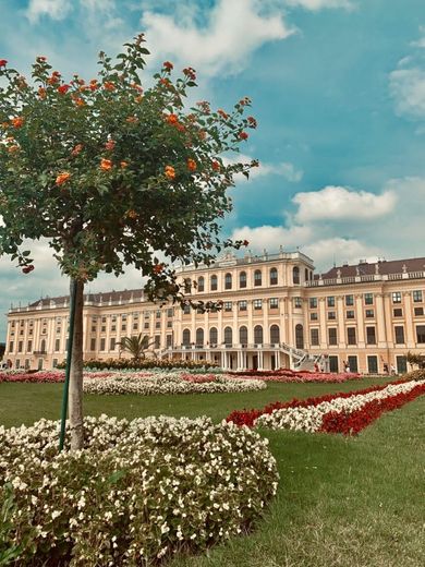
[[(203, 377), (199, 377), (203, 379)], [(230, 391), (260, 390), (267, 387), (264, 381), (233, 378), (224, 375), (211, 376), (210, 382), (184, 379), (178, 373), (156, 373), (155, 375), (121, 374), (105, 378), (84, 378), (87, 394), (215, 394)]]

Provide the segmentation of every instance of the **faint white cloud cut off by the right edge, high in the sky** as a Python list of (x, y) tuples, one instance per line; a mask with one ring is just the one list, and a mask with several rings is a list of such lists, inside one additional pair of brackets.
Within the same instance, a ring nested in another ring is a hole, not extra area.
[(390, 92), (400, 114), (425, 117), (425, 71), (418, 68), (397, 69), (389, 75)]

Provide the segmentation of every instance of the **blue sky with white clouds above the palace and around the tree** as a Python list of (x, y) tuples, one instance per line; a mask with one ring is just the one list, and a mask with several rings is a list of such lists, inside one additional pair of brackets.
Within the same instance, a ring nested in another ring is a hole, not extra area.
[[(317, 272), (425, 256), (424, 0), (0, 0), (0, 59), (23, 74), (42, 55), (90, 79), (100, 50), (139, 32), (146, 82), (170, 60), (212, 107), (253, 100), (239, 159), (260, 167), (230, 190), (223, 237), (299, 249)], [(0, 341), (11, 303), (68, 292), (47, 243), (32, 250), (27, 276), (0, 258)], [(141, 284), (129, 268), (87, 290)]]

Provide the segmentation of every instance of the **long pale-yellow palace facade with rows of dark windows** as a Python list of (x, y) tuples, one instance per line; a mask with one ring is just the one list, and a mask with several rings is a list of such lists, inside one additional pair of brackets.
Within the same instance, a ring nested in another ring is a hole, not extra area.
[[(408, 351), (425, 349), (425, 258), (360, 262), (315, 274), (301, 252), (226, 254), (209, 267), (184, 266), (187, 297), (222, 310), (149, 302), (142, 289), (85, 294), (84, 358), (129, 357), (123, 337), (148, 335), (160, 357), (214, 360), (224, 369), (405, 372)], [(52, 369), (65, 359), (68, 297), (8, 313), (4, 360)]]

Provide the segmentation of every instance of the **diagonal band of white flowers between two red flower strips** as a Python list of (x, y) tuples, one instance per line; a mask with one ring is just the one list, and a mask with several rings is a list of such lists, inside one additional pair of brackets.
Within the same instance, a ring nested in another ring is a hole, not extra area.
[(405, 382), (403, 384), (390, 384), (381, 390), (371, 391), (368, 394), (354, 394), (349, 398), (335, 398), (330, 401), (323, 401), (317, 406), (275, 410), (271, 413), (260, 415), (255, 421), (255, 425), (272, 430), (295, 430), (311, 433), (317, 432), (321, 427), (324, 415), (330, 411), (352, 412), (361, 409), (369, 401), (386, 399), (396, 396), (397, 394), (405, 394), (416, 387), (417, 384), (417, 381)]

